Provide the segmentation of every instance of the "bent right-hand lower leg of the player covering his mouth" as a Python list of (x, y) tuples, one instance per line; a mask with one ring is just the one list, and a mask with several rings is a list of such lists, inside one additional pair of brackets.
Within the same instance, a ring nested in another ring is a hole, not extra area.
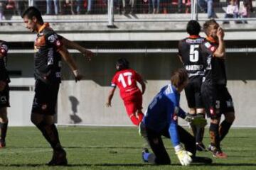
[(228, 131), (231, 128), (235, 120), (235, 112), (224, 113), (225, 120), (220, 124), (219, 132), (220, 132), (220, 141), (224, 139), (224, 137), (228, 134)]

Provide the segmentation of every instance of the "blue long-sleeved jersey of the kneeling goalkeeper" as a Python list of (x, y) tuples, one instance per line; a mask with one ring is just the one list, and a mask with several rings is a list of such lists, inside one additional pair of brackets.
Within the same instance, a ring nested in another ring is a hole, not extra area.
[(147, 108), (143, 122), (146, 128), (161, 132), (169, 128), (171, 142), (180, 144), (177, 125), (178, 116), (185, 118), (186, 113), (179, 107), (180, 94), (171, 84), (164, 86)]

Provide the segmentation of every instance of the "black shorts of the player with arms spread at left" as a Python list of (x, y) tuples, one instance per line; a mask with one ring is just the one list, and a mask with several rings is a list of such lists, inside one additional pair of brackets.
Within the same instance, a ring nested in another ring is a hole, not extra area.
[(54, 115), (58, 98), (59, 83), (46, 84), (36, 80), (32, 113)]

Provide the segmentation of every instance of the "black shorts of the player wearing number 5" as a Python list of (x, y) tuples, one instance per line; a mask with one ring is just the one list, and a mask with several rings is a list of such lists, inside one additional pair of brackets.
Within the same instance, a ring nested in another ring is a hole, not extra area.
[(201, 79), (189, 80), (186, 88), (185, 94), (188, 101), (189, 108), (203, 108), (203, 100), (201, 95)]

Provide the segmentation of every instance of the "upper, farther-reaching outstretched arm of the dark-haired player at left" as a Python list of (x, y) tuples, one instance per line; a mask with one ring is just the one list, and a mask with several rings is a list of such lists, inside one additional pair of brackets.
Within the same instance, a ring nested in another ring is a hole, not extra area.
[(82, 47), (76, 42), (70, 41), (67, 38), (62, 37), (63, 45), (65, 45), (69, 49), (75, 49), (82, 53), (83, 56), (87, 57), (87, 59), (90, 61), (91, 58), (94, 56), (94, 53), (90, 50), (87, 50), (85, 47)]

